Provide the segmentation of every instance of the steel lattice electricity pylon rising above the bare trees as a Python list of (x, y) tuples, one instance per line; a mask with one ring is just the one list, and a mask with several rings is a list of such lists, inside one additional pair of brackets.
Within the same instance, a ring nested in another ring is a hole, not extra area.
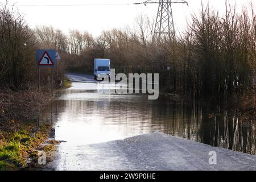
[(154, 37), (160, 38), (162, 35), (164, 37), (168, 36), (168, 38), (175, 39), (175, 28), (174, 28), (174, 18), (172, 16), (172, 3), (186, 3), (187, 1), (171, 1), (171, 0), (159, 0), (159, 2), (151, 2), (151, 0), (142, 2), (142, 3), (135, 3), (138, 4), (152, 4), (158, 3), (158, 13), (156, 15), (156, 22), (155, 22), (155, 30), (154, 30)]

